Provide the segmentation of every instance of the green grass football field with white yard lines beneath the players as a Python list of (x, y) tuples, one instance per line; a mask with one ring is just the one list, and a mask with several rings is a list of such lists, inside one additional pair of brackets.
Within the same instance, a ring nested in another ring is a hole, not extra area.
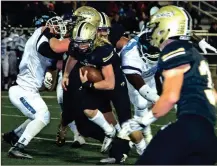
[[(16, 109), (8, 98), (7, 92), (1, 93), (1, 132), (8, 132), (26, 120), (21, 112)], [(51, 112), (51, 122), (45, 127), (28, 145), (26, 151), (33, 156), (32, 160), (13, 159), (7, 156), (10, 145), (1, 143), (2, 165), (74, 165), (74, 164), (96, 164), (100, 159), (107, 157), (100, 153), (101, 144), (93, 139), (87, 138), (87, 144), (82, 148), (70, 147), (73, 140), (71, 131), (68, 130), (67, 143), (63, 147), (55, 145), (57, 125), (59, 124), (60, 108), (57, 104), (55, 92), (41, 93)], [(152, 125), (153, 133), (169, 121), (175, 120), (175, 112), (171, 111), (166, 117), (161, 118)], [(217, 131), (217, 129), (216, 129)], [(135, 150), (129, 155), (126, 164), (133, 164), (138, 155)]]

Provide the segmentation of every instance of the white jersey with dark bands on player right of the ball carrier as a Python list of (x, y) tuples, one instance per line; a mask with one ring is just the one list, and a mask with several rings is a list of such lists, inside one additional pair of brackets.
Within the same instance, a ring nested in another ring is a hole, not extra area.
[(147, 84), (154, 78), (157, 71), (157, 63), (151, 64), (144, 59), (138, 47), (138, 36), (131, 39), (122, 48), (120, 57), (125, 74), (139, 74)]

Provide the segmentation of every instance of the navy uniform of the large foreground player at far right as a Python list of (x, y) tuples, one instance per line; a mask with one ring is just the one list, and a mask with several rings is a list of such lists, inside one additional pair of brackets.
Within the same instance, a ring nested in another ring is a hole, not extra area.
[[(215, 164), (217, 138), (213, 85), (206, 59), (188, 41), (174, 41), (160, 54), (159, 69), (183, 64), (191, 68), (184, 74), (177, 121), (161, 129), (136, 164)], [(156, 152), (160, 155), (156, 158)]]

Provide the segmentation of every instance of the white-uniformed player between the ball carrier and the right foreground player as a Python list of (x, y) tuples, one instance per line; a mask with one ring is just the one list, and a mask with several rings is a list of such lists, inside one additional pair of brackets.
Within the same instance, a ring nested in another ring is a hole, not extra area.
[[(153, 14), (154, 13), (152, 13), (152, 16)], [(137, 117), (143, 116), (145, 112), (151, 108), (150, 106), (159, 98), (154, 79), (154, 75), (157, 71), (159, 50), (150, 46), (149, 41), (146, 40), (146, 35), (148, 33), (149, 32), (146, 29), (131, 40), (122, 37), (117, 43), (117, 47), (119, 49), (122, 48), (119, 53), (122, 58), (122, 68), (128, 80), (129, 96), (134, 105), (135, 116)], [(195, 35), (193, 40), (196, 40), (196, 43), (199, 42), (199, 46), (204, 53), (207, 53), (206, 49), (216, 51), (214, 47)], [(142, 81), (141, 78), (143, 78), (144, 81)], [(147, 84), (145, 85), (144, 83)], [(152, 100), (150, 98), (152, 98)], [(125, 125), (123, 130), (128, 130), (127, 128), (128, 125)], [(146, 143), (148, 144), (152, 139), (150, 126), (144, 128), (143, 133), (145, 135)], [(140, 142), (142, 137), (137, 137), (137, 142)], [(144, 149), (137, 148), (139, 154), (142, 154), (143, 150)]]

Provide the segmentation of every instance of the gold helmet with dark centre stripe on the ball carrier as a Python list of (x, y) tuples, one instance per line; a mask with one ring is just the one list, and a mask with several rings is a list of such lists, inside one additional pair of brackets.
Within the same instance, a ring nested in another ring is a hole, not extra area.
[(88, 22), (79, 22), (72, 31), (73, 48), (80, 53), (92, 51), (96, 38), (97, 27)]

